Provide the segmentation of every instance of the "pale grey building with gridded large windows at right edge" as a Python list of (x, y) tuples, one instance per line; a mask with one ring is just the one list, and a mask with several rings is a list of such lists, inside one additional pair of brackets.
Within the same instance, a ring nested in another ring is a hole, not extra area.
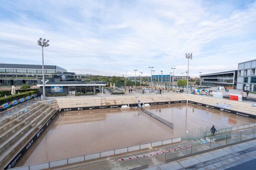
[(237, 89), (256, 91), (256, 59), (238, 63)]

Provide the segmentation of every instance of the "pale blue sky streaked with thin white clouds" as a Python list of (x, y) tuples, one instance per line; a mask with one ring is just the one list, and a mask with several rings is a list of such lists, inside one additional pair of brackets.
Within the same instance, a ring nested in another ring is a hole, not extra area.
[(237, 69), (256, 58), (255, 0), (0, 0), (0, 63), (41, 64), (78, 74), (191, 76)]

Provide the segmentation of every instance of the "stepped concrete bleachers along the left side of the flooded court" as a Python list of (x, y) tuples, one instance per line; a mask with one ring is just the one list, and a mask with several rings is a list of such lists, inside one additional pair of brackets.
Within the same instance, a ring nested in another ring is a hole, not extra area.
[(7, 116), (0, 122), (0, 165), (6, 163), (22, 148), (51, 116), (59, 110), (57, 101), (42, 101), (29, 108)]

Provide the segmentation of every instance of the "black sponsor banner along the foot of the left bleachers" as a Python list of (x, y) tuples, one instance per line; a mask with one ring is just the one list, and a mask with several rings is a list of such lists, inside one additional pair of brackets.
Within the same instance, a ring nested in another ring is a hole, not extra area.
[(12, 160), (5, 165), (4, 170), (13, 168), (17, 162), (21, 159), (21, 157), (27, 152), (27, 150), (32, 146), (32, 144), (41, 136), (41, 134), (44, 132), (45, 128), (52, 122), (56, 115), (59, 113), (59, 111), (56, 111), (53, 116), (40, 128), (35, 135), (23, 146), (23, 148), (12, 158)]

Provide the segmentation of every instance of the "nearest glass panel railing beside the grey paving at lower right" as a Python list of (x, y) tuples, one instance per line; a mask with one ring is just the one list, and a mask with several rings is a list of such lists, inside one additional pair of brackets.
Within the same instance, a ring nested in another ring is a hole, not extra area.
[[(243, 140), (256, 138), (256, 128), (239, 131), (235, 133), (219, 134), (214, 136), (206, 137), (203, 140), (197, 140), (193, 142), (183, 143), (171, 147), (166, 147), (166, 150), (170, 152), (165, 153), (165, 161), (172, 161), (180, 157), (191, 155), (194, 153), (199, 153), (207, 151), (209, 149), (218, 148), (221, 146), (229, 145), (232, 143), (237, 143)], [(190, 146), (186, 149), (172, 149), (172, 148), (182, 148), (183, 146)]]

